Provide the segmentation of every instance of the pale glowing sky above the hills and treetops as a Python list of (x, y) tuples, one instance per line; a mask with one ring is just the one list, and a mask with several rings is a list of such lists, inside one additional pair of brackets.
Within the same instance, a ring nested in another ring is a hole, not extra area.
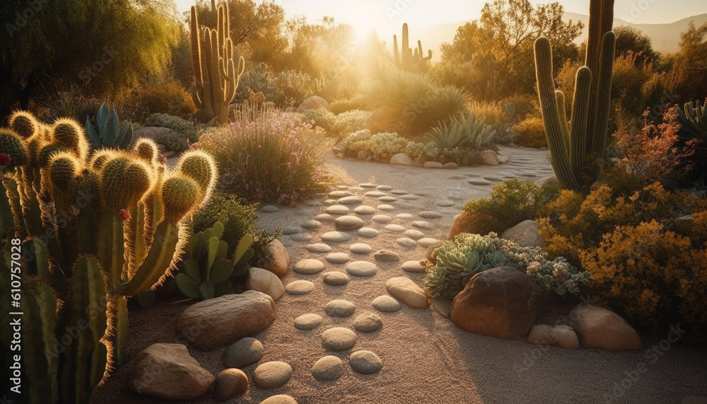
[[(262, 0), (255, 0), (260, 3)], [(284, 8), (286, 18), (307, 16), (310, 23), (323, 16), (356, 28), (358, 35), (375, 30), (383, 37), (397, 33), (402, 23), (411, 26), (457, 23), (479, 18), (483, 0), (274, 0)], [(491, 2), (491, 0), (488, 0)], [(180, 11), (188, 10), (193, 0), (175, 0)], [(530, 0), (532, 4), (549, 1)], [(560, 0), (565, 11), (589, 13), (589, 0)], [(682, 18), (707, 13), (704, 0), (616, 0), (614, 17), (629, 23), (672, 23)]]

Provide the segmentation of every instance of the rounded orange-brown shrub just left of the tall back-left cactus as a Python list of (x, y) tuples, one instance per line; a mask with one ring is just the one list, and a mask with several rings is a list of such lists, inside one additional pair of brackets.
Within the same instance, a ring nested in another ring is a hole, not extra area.
[(122, 114), (136, 122), (143, 122), (155, 113), (187, 119), (197, 110), (189, 93), (175, 82), (133, 88), (120, 104)]

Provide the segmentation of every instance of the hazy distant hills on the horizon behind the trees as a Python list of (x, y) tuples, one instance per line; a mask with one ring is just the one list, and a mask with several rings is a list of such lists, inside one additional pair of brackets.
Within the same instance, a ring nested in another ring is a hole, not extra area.
[[(579, 43), (586, 39), (588, 35), (587, 25), (589, 22), (589, 16), (578, 13), (565, 13), (563, 19), (565, 21), (572, 20), (574, 22), (582, 21), (585, 28), (583, 29), (582, 35), (578, 37), (577, 42)], [(424, 52), (426, 53), (428, 49), (431, 49), (433, 62), (438, 62), (440, 60), (440, 45), (442, 45), (443, 42), (452, 42), (454, 35), (457, 32), (457, 28), (471, 21), (473, 20), (460, 21), (459, 23), (452, 24), (413, 25), (410, 27), (410, 37), (411, 40), (421, 40)], [(667, 24), (632, 24), (620, 20), (619, 18), (615, 18), (614, 26), (629, 25), (633, 28), (641, 30), (645, 33), (645, 35), (650, 37), (651, 42), (653, 42), (654, 50), (658, 52), (670, 53), (678, 50), (680, 34), (687, 30), (690, 21), (694, 21), (695, 25), (699, 27), (703, 23), (707, 22), (707, 13), (700, 14), (699, 16), (683, 18), (682, 20)], [(392, 42), (392, 37), (384, 37), (382, 39), (388, 43)]]

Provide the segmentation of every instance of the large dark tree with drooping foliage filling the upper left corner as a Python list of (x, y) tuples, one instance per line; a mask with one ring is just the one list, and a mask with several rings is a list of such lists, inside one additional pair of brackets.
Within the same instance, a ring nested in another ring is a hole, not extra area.
[(4, 1), (0, 114), (53, 91), (115, 96), (162, 71), (174, 45), (170, 0)]

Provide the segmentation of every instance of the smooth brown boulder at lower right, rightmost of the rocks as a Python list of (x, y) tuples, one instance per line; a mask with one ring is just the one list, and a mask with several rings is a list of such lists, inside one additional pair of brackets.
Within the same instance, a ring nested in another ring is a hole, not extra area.
[(593, 304), (580, 304), (570, 313), (573, 327), (585, 348), (640, 350), (641, 337), (617, 313)]

